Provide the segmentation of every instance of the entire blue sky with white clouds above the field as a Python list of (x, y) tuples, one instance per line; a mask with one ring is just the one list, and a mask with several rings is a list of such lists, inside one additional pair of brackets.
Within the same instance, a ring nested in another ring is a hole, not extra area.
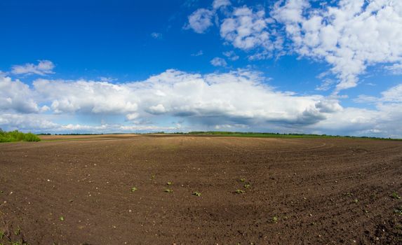
[(6, 0), (0, 10), (4, 130), (402, 137), (398, 1)]

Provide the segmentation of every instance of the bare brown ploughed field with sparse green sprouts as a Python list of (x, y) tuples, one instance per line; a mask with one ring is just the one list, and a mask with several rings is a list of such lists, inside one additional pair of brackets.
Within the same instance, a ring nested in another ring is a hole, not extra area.
[(402, 141), (43, 139), (0, 144), (0, 244), (402, 244)]

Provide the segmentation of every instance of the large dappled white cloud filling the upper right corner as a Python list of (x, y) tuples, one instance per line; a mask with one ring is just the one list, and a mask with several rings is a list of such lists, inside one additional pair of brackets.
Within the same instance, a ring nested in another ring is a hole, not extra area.
[(288, 0), (271, 14), (285, 25), (295, 52), (333, 66), (340, 80), (335, 92), (355, 87), (369, 65), (402, 60), (402, 1), (341, 0), (312, 8), (307, 0)]

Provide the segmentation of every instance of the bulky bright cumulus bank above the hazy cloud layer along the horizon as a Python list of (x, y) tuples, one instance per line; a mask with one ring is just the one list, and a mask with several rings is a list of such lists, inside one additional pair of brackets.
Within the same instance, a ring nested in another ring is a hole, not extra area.
[(18, 80), (3, 78), (0, 84), (8, 90), (1, 90), (6, 99), (1, 100), (0, 111), (121, 115), (126, 121), (168, 116), (201, 125), (309, 125), (342, 110), (337, 101), (327, 102), (318, 95), (274, 91), (264, 79), (248, 70), (204, 75), (167, 70), (147, 80), (119, 84), (40, 78), (29, 88)]

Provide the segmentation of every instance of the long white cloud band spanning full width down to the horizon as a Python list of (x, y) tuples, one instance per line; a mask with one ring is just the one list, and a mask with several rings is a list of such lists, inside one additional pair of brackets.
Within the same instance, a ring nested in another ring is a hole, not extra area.
[[(335, 97), (277, 91), (266, 81), (261, 73), (250, 70), (203, 75), (167, 70), (147, 80), (119, 84), (37, 79), (33, 87), (1, 78), (0, 97), (6, 99), (0, 100), (0, 127), (34, 132), (247, 128), (402, 137), (398, 123), (402, 120), (402, 85), (371, 97), (375, 109), (367, 110), (343, 108)], [(101, 120), (98, 125), (68, 123), (82, 115), (112, 116), (114, 120), (112, 124)], [(186, 126), (152, 123), (166, 118), (185, 121)], [(66, 123), (55, 123), (60, 121)]]

